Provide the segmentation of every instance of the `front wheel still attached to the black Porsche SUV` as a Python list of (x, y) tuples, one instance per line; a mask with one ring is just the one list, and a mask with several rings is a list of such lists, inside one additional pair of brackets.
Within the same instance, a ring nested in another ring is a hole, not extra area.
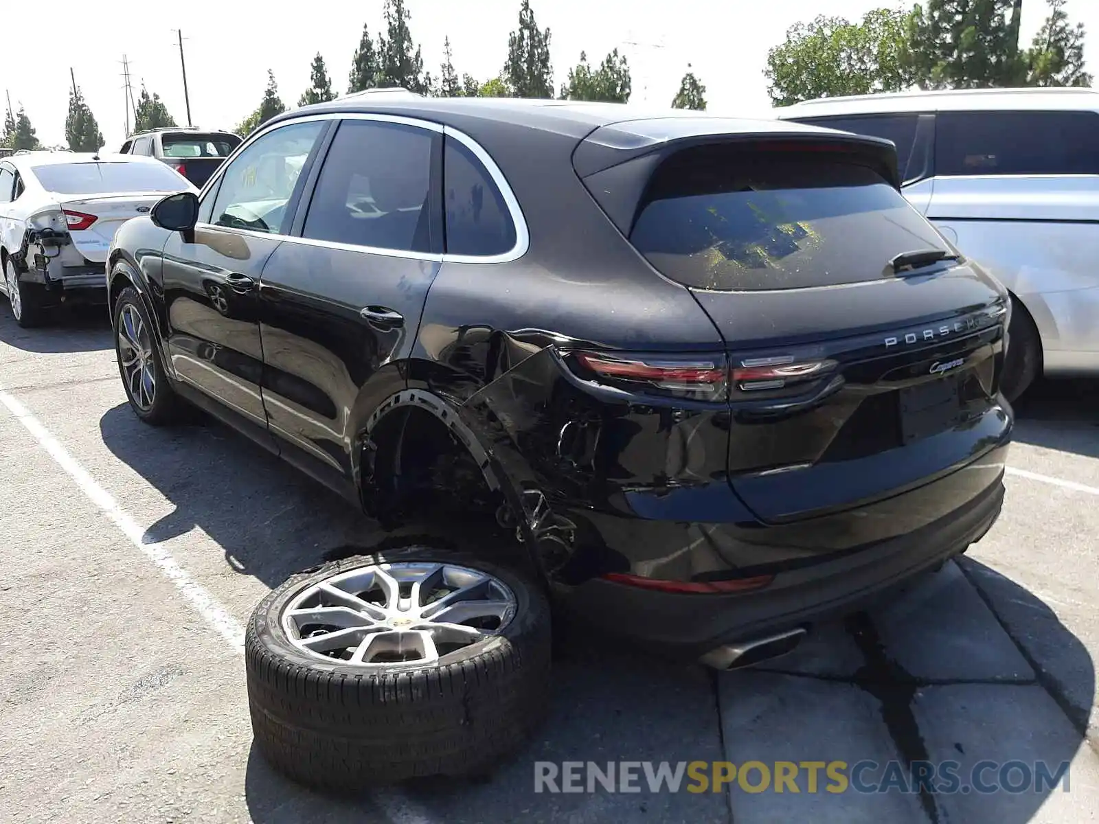
[(130, 407), (154, 426), (180, 419), (184, 400), (176, 394), (153, 344), (152, 323), (137, 292), (122, 290), (114, 302), (114, 353)]

